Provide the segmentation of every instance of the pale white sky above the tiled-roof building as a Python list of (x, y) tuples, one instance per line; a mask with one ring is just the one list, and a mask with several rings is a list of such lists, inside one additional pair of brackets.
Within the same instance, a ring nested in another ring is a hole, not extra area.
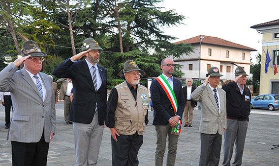
[(174, 9), (186, 17), (184, 24), (164, 28), (178, 42), (198, 35), (218, 37), (254, 48), (251, 57), (262, 54), (262, 34), (250, 26), (279, 19), (279, 0), (164, 0), (162, 11)]

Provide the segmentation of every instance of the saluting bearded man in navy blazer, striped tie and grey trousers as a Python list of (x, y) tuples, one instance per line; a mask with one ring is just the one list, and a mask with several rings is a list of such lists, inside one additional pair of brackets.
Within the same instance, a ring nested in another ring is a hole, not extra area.
[[(70, 121), (74, 127), (76, 166), (95, 166), (106, 117), (107, 70), (97, 64), (102, 48), (95, 40), (85, 39), (82, 50), (58, 65), (53, 74), (73, 82)], [(77, 61), (83, 56), (85, 60)]]

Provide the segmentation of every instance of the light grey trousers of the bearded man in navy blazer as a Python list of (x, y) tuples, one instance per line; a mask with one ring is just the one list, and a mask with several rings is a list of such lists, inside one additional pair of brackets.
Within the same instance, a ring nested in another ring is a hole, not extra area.
[(95, 113), (90, 124), (73, 123), (76, 149), (76, 166), (96, 166), (104, 126), (99, 125)]

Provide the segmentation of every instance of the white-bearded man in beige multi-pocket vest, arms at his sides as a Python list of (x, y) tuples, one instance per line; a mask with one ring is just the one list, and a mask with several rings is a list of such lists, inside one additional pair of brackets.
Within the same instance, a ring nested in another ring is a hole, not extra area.
[(124, 63), (126, 81), (115, 86), (108, 98), (107, 123), (111, 131), (112, 165), (138, 166), (138, 151), (148, 123), (147, 88), (139, 85), (142, 71), (129, 60)]

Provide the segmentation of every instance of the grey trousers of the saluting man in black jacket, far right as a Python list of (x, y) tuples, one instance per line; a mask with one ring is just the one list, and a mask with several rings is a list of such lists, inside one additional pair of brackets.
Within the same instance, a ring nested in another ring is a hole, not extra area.
[(223, 166), (230, 166), (235, 142), (235, 156), (233, 166), (241, 166), (244, 143), (248, 128), (248, 121), (227, 119), (227, 129), (224, 133), (224, 161)]

